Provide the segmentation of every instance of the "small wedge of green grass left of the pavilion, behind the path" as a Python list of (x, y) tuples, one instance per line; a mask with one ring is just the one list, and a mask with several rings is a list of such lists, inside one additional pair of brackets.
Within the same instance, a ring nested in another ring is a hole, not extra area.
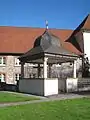
[(30, 101), (30, 100), (38, 100), (39, 98), (32, 96), (24, 96), (19, 93), (9, 93), (9, 92), (0, 92), (0, 103), (7, 102), (21, 102), (21, 101)]

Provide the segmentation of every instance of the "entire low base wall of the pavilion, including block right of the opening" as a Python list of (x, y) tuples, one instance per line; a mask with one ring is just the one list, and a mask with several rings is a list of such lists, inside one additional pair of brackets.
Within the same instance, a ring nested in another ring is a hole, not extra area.
[(77, 82), (78, 78), (23, 78), (19, 81), (19, 91), (40, 96), (57, 95), (77, 91)]

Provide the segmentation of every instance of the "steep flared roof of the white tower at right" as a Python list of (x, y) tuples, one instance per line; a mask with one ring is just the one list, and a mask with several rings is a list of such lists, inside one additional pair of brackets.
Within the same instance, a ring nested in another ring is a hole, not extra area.
[[(89, 29), (89, 27), (87, 26), (89, 24), (90, 21), (90, 14), (88, 14), (84, 20), (81, 22), (81, 24), (72, 32), (71, 36), (65, 41), (65, 42), (70, 42), (71, 44), (73, 44), (74, 46), (76, 46), (76, 48), (80, 51), (80, 52), (84, 52), (84, 48), (83, 48), (83, 41), (81, 42), (81, 40), (83, 39), (83, 34), (82, 31), (84, 31), (85, 29)], [(78, 39), (79, 38), (79, 39)]]

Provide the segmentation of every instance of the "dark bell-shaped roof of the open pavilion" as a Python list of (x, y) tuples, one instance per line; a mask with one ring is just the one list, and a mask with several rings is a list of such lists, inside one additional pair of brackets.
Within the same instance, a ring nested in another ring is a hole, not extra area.
[(62, 42), (57, 36), (46, 29), (41, 36), (36, 38), (33, 48), (22, 55), (19, 59), (21, 61), (35, 60), (39, 59), (41, 55), (44, 57), (46, 53), (76, 57), (75, 54), (66, 50), (62, 46)]

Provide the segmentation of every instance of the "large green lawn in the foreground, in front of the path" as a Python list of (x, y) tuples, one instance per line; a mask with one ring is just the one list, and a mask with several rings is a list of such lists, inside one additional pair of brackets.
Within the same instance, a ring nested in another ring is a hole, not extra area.
[(90, 99), (73, 99), (0, 108), (0, 120), (90, 120)]

